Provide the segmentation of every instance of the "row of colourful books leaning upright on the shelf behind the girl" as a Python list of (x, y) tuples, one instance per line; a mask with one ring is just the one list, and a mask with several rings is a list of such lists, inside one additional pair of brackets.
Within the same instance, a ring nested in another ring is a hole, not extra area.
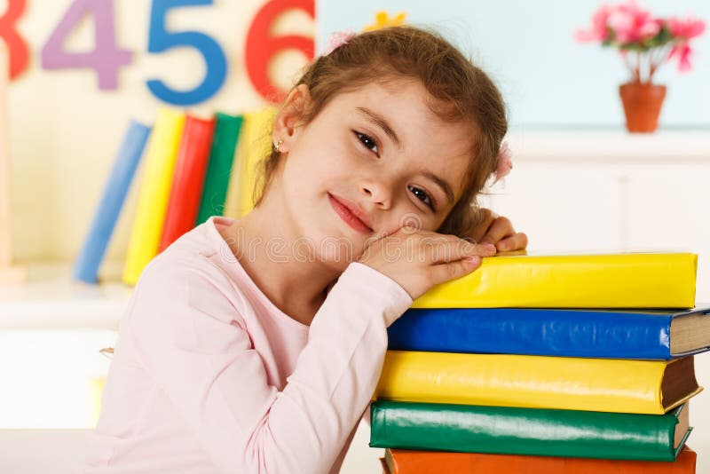
[(274, 109), (200, 117), (162, 108), (153, 126), (130, 121), (74, 268), (99, 281), (99, 266), (144, 162), (122, 280), (135, 285), (147, 263), (210, 216), (241, 217), (253, 207), (256, 162), (271, 149)]

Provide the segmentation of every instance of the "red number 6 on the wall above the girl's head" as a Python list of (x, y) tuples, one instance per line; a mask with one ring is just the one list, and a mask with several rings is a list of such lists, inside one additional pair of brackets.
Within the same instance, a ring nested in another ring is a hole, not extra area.
[(247, 74), (249, 80), (261, 96), (269, 101), (280, 101), (283, 92), (273, 85), (269, 77), (269, 63), (276, 53), (296, 49), (303, 51), (306, 58), (313, 58), (315, 50), (313, 38), (307, 36), (272, 36), (272, 22), (283, 12), (291, 9), (304, 10), (315, 17), (314, 0), (271, 0), (256, 13), (247, 34)]

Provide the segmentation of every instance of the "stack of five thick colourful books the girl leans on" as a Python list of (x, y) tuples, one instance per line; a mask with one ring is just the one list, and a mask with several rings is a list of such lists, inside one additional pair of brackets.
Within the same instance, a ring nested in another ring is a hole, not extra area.
[[(485, 258), (389, 328), (370, 446), (390, 474), (695, 472), (690, 253)], [(652, 309), (647, 309), (652, 308)]]

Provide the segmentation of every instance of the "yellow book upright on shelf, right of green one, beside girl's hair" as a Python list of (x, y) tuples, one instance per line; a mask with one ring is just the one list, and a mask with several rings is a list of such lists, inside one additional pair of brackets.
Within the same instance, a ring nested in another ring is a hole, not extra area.
[(259, 164), (271, 153), (274, 107), (244, 114), (240, 140), (234, 154), (233, 174), (229, 181), (225, 216), (240, 218), (254, 208), (252, 196)]

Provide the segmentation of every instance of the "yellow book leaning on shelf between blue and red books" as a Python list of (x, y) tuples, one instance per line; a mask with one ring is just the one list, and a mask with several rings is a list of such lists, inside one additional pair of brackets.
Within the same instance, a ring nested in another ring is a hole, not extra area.
[(138, 209), (123, 269), (123, 281), (128, 285), (136, 284), (143, 268), (158, 254), (184, 123), (185, 114), (163, 108), (148, 140)]

